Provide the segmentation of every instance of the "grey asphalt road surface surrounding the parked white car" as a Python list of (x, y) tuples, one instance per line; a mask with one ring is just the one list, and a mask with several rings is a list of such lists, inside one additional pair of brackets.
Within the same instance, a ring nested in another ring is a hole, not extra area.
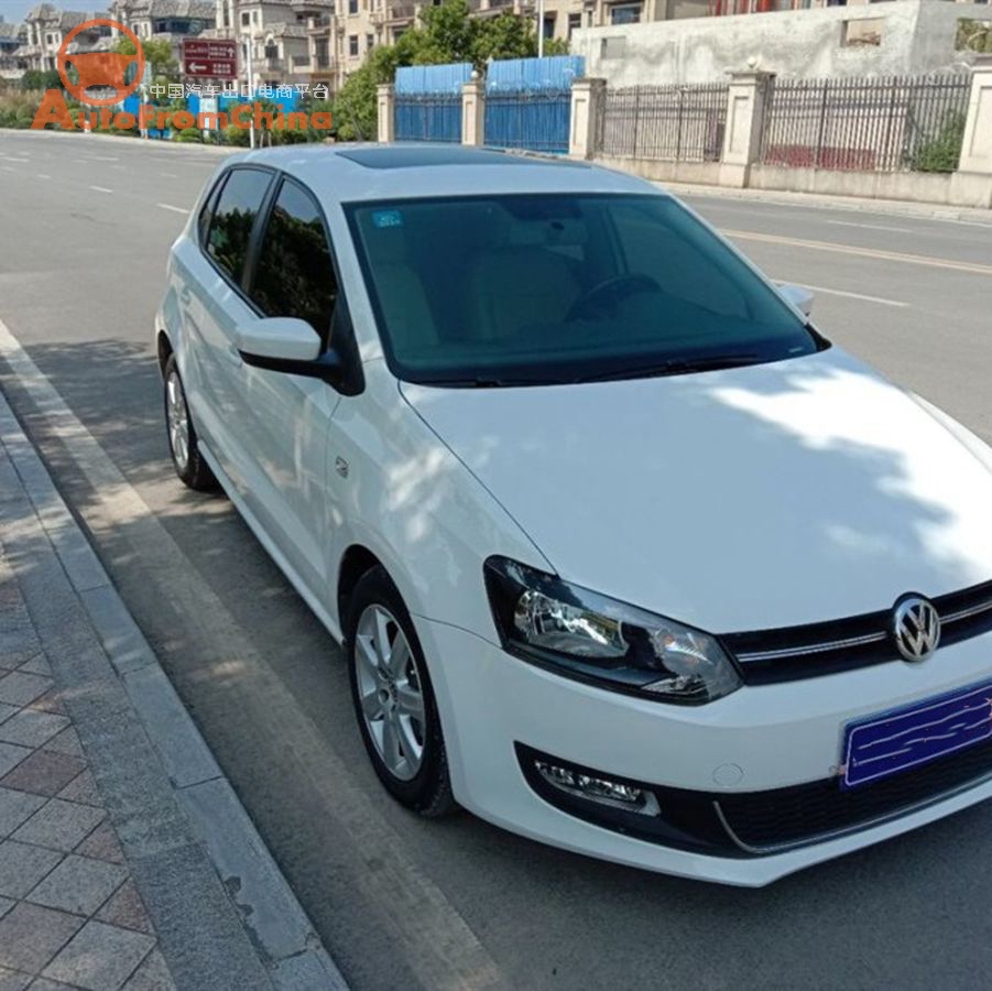
[[(229, 504), (184, 491), (167, 460), (152, 316), (218, 162), (0, 131), (0, 320), (74, 416), (35, 406), (23, 362), (0, 361), (0, 381), (352, 985), (986, 987), (992, 805), (745, 891), (468, 815), (423, 823), (384, 796), (330, 638)], [(817, 287), (829, 337), (992, 442), (992, 227), (693, 205), (774, 277)]]

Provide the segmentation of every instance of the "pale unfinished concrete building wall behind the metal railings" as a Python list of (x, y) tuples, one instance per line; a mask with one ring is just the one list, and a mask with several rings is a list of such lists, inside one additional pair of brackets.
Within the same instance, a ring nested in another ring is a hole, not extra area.
[[(571, 51), (586, 56), (588, 76), (610, 86), (707, 83), (745, 68), (805, 78), (907, 75), (970, 61), (955, 52), (958, 19), (988, 17), (988, 4), (895, 0), (590, 28), (575, 33)], [(843, 22), (855, 19), (884, 19), (880, 45), (842, 45)]]

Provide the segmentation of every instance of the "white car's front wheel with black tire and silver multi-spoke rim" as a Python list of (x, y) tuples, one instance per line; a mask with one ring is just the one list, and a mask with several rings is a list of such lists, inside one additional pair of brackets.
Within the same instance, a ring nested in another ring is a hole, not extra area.
[(426, 818), (453, 812), (457, 805), (424, 652), (384, 568), (372, 568), (356, 585), (345, 635), (355, 716), (379, 780), (401, 805)]

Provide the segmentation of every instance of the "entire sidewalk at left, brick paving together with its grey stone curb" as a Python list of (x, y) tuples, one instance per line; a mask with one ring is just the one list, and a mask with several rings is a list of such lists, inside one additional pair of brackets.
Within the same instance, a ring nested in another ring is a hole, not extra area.
[(345, 987), (0, 395), (0, 991)]

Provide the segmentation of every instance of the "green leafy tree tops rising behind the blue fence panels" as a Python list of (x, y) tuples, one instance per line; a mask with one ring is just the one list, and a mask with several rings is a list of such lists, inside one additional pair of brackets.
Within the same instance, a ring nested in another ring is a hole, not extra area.
[[(568, 45), (547, 41), (546, 55), (565, 55)], [(530, 58), (537, 35), (530, 19), (504, 11), (495, 18), (470, 18), (468, 0), (445, 0), (421, 11), (421, 25), (394, 45), (374, 48), (353, 72), (334, 101), (337, 135), (344, 141), (375, 138), (375, 87), (392, 83), (400, 66), (470, 62), (478, 70), (494, 58)]]

